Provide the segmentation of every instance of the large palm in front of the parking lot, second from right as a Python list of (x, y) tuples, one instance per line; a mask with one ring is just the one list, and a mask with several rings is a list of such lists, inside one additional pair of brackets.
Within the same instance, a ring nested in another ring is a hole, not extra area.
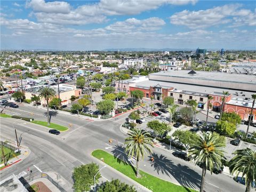
[(204, 191), (206, 169), (208, 168), (212, 173), (214, 166), (222, 165), (221, 159), (224, 156), (225, 144), (218, 139), (217, 135), (203, 133), (188, 149), (188, 156), (195, 161), (195, 164), (202, 165), (200, 192)]

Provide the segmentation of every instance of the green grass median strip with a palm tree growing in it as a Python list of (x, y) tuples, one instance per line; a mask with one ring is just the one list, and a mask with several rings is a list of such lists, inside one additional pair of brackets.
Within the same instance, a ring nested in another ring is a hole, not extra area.
[(140, 183), (142, 186), (145, 186), (149, 188), (150, 190), (153, 190), (154, 192), (195, 192), (196, 190), (190, 189), (187, 187), (182, 187), (175, 185), (174, 183), (159, 179), (157, 177), (154, 177), (153, 175), (150, 175), (146, 172), (143, 172), (140, 170), (141, 178), (137, 178), (135, 175), (135, 168), (132, 165), (126, 164), (121, 159), (118, 159), (114, 157), (113, 155), (110, 155), (106, 151), (97, 149), (92, 152), (92, 156), (101, 159), (104, 158), (104, 162), (117, 171), (125, 174), (127, 177), (133, 179), (134, 181)]

